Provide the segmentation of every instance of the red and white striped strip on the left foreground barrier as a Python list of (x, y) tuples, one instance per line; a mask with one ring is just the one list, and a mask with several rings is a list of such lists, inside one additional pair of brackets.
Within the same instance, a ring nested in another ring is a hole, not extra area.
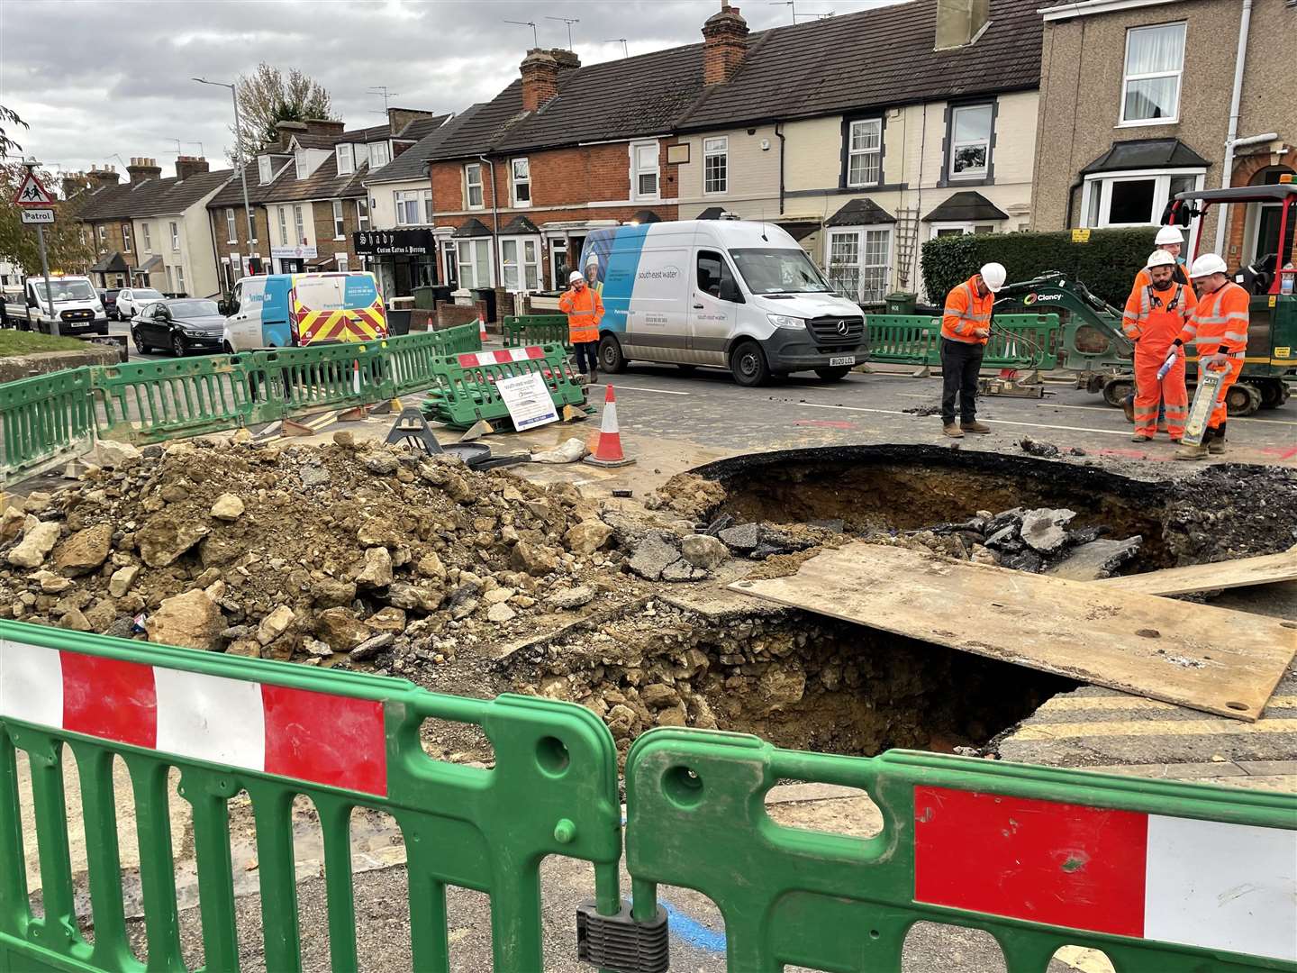
[(0, 640), (0, 716), (388, 793), (383, 703)]

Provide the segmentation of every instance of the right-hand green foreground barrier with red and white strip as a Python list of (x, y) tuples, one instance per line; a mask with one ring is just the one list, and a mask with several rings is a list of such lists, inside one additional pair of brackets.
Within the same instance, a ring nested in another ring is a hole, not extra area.
[[(894, 973), (917, 921), (988, 931), (1009, 973), (1066, 944), (1118, 973), (1297, 969), (1291, 794), (667, 729), (625, 775), (636, 919), (659, 883), (707, 895), (734, 973)], [(776, 825), (764, 795), (785, 778), (866, 790), (882, 833)]]

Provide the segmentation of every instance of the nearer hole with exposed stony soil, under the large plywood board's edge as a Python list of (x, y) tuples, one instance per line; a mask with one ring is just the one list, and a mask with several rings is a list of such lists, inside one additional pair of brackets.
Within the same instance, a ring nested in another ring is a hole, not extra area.
[(520, 691), (590, 707), (625, 756), (651, 727), (877, 754), (979, 746), (1078, 684), (794, 610), (715, 619), (656, 602), (511, 660)]

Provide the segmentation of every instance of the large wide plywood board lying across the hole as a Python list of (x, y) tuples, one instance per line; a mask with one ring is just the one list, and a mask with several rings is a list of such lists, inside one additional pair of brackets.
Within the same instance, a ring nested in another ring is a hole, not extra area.
[(1297, 623), (873, 544), (730, 588), (1240, 720), (1297, 651)]

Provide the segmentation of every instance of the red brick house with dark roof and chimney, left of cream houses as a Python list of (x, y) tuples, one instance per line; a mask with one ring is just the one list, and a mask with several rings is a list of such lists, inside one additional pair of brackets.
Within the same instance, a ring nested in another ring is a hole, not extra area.
[(441, 279), (502, 297), (558, 288), (590, 230), (676, 219), (671, 132), (702, 74), (700, 44), (590, 67), (529, 51), (519, 80), (428, 154)]

